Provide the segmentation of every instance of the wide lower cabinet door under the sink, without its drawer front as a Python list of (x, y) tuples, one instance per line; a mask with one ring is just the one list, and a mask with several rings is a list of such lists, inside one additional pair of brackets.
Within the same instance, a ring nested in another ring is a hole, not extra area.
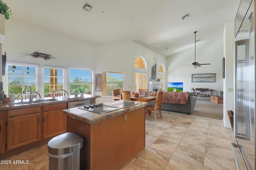
[(40, 141), (41, 113), (7, 118), (7, 150)]

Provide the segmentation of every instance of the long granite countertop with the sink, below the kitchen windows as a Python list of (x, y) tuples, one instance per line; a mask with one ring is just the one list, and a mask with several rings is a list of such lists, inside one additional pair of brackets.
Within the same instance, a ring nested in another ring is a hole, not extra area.
[(38, 102), (38, 100), (51, 100), (52, 97), (49, 98), (38, 98), (38, 99), (33, 99), (33, 101), (30, 103), (30, 101), (28, 99), (26, 100), (15, 100), (14, 103), (26, 103), (28, 102), (28, 104), (10, 104), (10, 103), (2, 103), (0, 105), (0, 111), (2, 110), (8, 110), (8, 109), (21, 109), (21, 108), (28, 108), (28, 107), (34, 107), (34, 106), (43, 106), (43, 105), (50, 105), (50, 104), (60, 104), (60, 103), (66, 103), (66, 102), (74, 102), (74, 101), (79, 101), (79, 100), (89, 100), (92, 98), (100, 98), (101, 96), (92, 96), (89, 94), (84, 94), (84, 97), (80, 97), (80, 95), (78, 95), (78, 97), (75, 97), (74, 95), (71, 96), (66, 96), (66, 97), (62, 97), (62, 96), (58, 96), (55, 97), (54, 101), (46, 101), (46, 102), (39, 102), (39, 103), (33, 103), (33, 102)]

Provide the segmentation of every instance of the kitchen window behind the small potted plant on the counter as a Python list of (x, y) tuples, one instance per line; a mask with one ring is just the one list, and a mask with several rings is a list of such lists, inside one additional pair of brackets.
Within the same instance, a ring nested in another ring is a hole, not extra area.
[(70, 93), (74, 94), (73, 89), (85, 87), (87, 94), (92, 94), (92, 71), (70, 69)]

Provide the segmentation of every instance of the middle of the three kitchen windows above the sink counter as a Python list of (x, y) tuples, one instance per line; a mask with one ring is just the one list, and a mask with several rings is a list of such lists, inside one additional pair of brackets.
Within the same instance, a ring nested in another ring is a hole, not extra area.
[(63, 72), (64, 68), (44, 67), (44, 97), (51, 97), (54, 90), (64, 89)]

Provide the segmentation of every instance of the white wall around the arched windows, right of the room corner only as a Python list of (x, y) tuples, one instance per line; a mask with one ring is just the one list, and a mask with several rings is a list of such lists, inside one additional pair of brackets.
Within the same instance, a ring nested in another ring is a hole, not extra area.
[[(95, 74), (102, 74), (103, 70), (124, 70), (124, 89), (131, 92), (134, 90), (133, 71), (136, 70), (136, 68), (134, 68), (134, 61), (137, 57), (141, 56), (145, 59), (147, 66), (146, 72), (149, 72), (149, 61), (152, 57), (156, 59), (157, 63), (163, 64), (164, 66), (166, 65), (165, 57), (162, 57), (158, 53), (134, 41), (97, 45), (96, 56)], [(95, 92), (95, 95), (102, 96), (102, 92)], [(97, 98), (96, 103), (109, 102), (112, 100), (112, 97), (102, 97)]]

